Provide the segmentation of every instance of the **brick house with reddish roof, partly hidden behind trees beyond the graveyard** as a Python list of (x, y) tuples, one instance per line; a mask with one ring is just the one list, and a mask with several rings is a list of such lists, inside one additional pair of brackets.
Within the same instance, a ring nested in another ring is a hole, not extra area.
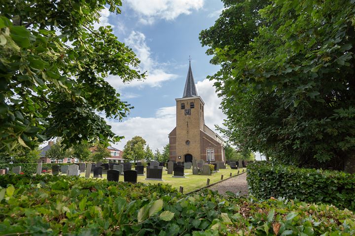
[[(48, 141), (48, 145), (40, 149), (41, 152), (40, 152), (40, 158), (38, 162), (42, 162), (42, 163), (78, 163), (79, 162), (77, 158), (63, 158), (56, 161), (45, 157), (45, 153), (52, 147), (53, 144), (54, 144), (53, 141)], [(89, 149), (91, 152), (95, 151), (95, 147)], [(123, 151), (117, 148), (113, 148), (112, 146), (108, 146), (107, 150), (110, 152), (110, 156), (105, 158), (108, 162), (117, 162), (117, 163), (124, 162), (124, 159), (122, 158)]]

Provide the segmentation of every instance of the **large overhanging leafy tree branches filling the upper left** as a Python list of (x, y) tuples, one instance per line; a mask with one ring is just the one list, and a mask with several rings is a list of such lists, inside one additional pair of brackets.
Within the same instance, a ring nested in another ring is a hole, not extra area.
[(13, 153), (52, 137), (68, 147), (122, 138), (96, 114), (122, 119), (131, 108), (104, 78), (145, 75), (109, 26), (94, 28), (105, 5), (120, 13), (120, 0), (1, 2), (0, 149)]

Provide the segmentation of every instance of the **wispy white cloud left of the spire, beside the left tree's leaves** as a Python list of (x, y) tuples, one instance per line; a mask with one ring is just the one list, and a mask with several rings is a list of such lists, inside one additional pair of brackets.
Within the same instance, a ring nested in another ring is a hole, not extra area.
[(128, 84), (123, 84), (121, 79), (116, 76), (108, 76), (106, 79), (113, 87), (120, 89), (123, 87), (160, 87), (165, 81), (178, 78), (178, 75), (166, 72), (165, 63), (158, 63), (152, 58), (150, 48), (145, 43), (145, 35), (139, 31), (132, 31), (125, 43), (133, 49), (137, 57), (141, 60), (140, 70), (147, 71), (146, 79), (142, 81), (132, 81)]

